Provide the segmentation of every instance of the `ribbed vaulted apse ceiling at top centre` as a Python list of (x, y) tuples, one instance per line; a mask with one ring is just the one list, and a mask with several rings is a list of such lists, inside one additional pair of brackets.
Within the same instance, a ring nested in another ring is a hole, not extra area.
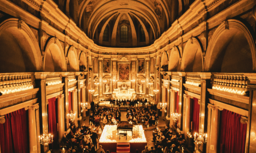
[[(58, 0), (55, 0), (58, 1)], [(61, 1), (61, 0), (59, 0)], [(148, 46), (182, 14), (186, 0), (66, 0), (65, 13), (95, 43), (111, 47)], [(120, 43), (120, 25), (127, 25), (129, 41)], [(105, 28), (109, 39), (102, 41)], [(145, 41), (140, 41), (140, 28)]]

